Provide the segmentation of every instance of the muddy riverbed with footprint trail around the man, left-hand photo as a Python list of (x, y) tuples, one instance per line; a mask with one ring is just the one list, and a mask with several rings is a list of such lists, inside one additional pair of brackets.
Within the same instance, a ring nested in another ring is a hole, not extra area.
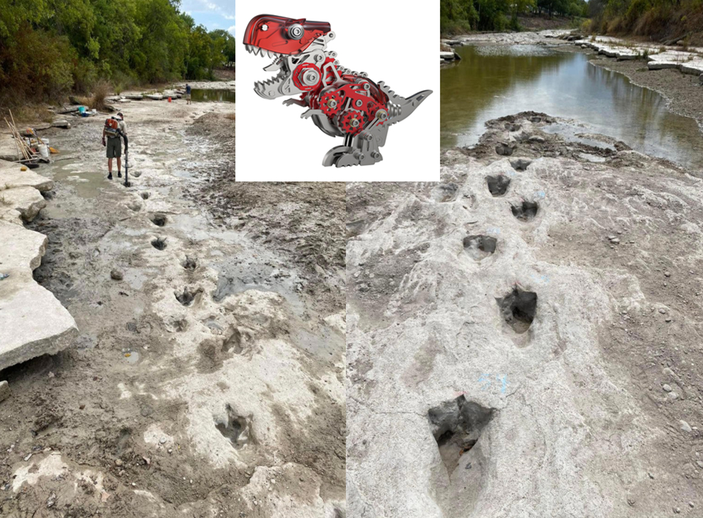
[(344, 186), (254, 203), (233, 104), (119, 107), (130, 188), (102, 117), (42, 133), (34, 278), (78, 334), (0, 373), (0, 514), (344, 516)]

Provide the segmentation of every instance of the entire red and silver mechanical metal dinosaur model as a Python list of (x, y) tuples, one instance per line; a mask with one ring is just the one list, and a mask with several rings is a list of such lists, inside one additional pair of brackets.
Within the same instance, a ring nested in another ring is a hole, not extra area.
[(373, 165), (383, 160), (379, 148), (386, 143), (389, 126), (407, 118), (432, 91), (404, 98), (383, 81), (374, 83), (364, 72), (343, 68), (337, 53), (326, 50), (334, 37), (324, 21), (255, 16), (245, 31), (245, 47), (273, 58), (264, 70), (278, 73), (257, 81), (254, 91), (265, 99), (300, 94), (284, 104), (308, 108), (301, 118), (312, 118), (329, 136), (344, 137), (344, 146), (330, 149), (323, 166)]

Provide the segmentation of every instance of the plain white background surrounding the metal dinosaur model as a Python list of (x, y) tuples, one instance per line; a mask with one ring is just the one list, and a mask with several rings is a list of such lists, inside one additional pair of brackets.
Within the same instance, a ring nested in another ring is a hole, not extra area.
[[(439, 6), (433, 4), (411, 9), (412, 2), (398, 0), (237, 2), (237, 181), (438, 181)], [(277, 73), (262, 70), (272, 59), (249, 54), (242, 44), (247, 24), (259, 14), (327, 21), (336, 35), (327, 51), (337, 52), (340, 66), (366, 72), (400, 96), (433, 91), (411, 116), (389, 128), (380, 149), (383, 161), (323, 167), (324, 154), (342, 146), (344, 138), (328, 136), (312, 119), (300, 118), (307, 108), (283, 106), (299, 94), (257, 96), (255, 81)]]

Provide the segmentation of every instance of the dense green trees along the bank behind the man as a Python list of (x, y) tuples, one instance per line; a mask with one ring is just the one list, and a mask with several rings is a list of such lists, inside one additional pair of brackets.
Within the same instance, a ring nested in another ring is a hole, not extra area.
[(208, 32), (178, 0), (11, 0), (0, 9), (0, 109), (178, 78), (235, 60), (227, 31)]

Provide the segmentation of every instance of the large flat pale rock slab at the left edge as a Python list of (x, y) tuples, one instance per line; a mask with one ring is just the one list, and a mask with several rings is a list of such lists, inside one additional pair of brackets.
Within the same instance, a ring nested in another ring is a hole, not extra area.
[[(36, 191), (35, 191), (36, 192)], [(53, 294), (32, 278), (46, 236), (0, 221), (0, 370), (65, 349), (76, 322)]]

